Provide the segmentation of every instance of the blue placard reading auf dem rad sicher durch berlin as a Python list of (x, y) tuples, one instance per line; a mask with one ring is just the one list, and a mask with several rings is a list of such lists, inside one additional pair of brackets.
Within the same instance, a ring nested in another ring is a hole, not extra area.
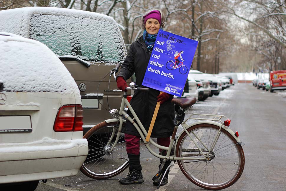
[(197, 46), (196, 40), (159, 30), (142, 84), (181, 97)]

